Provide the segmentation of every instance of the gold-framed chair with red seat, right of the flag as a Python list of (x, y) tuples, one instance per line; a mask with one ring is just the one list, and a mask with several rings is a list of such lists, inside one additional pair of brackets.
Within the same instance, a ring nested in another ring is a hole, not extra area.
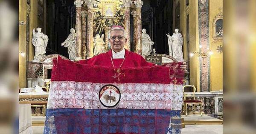
[[(186, 100), (186, 94), (184, 91), (185, 87), (192, 87), (193, 88), (193, 100)], [(202, 101), (201, 100), (195, 100), (195, 86), (194, 85), (185, 85), (183, 86), (183, 94), (184, 94), (184, 110), (186, 110), (186, 116), (188, 115), (188, 104), (192, 104), (194, 107), (194, 114), (195, 114), (195, 105), (199, 104), (200, 105), (200, 114), (201, 116), (203, 116), (202, 114)]]

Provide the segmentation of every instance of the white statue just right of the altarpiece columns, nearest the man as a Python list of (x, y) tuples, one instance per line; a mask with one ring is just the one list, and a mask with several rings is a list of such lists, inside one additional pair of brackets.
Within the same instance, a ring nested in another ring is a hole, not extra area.
[(146, 29), (142, 29), (142, 56), (145, 57), (146, 55), (149, 55), (152, 51), (152, 45), (154, 44), (153, 41), (151, 41), (149, 35), (146, 33)]

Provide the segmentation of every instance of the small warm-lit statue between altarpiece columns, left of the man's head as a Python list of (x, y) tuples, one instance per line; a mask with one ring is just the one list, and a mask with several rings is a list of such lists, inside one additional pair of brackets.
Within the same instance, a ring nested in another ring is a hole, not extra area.
[(102, 34), (102, 36), (100, 37), (99, 34), (95, 35), (95, 38), (93, 40), (93, 46), (94, 46), (94, 51), (93, 51), (93, 55), (98, 55), (101, 53), (105, 52), (105, 42), (104, 42), (104, 34)]

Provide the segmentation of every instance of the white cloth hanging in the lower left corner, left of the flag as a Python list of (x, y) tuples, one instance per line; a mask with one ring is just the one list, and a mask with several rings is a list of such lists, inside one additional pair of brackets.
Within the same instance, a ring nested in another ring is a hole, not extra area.
[(19, 134), (33, 134), (31, 104), (19, 104)]

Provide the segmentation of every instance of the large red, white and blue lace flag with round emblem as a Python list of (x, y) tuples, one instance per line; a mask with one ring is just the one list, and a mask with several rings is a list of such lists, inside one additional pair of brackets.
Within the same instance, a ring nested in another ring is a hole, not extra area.
[(180, 134), (183, 71), (53, 60), (44, 134)]

